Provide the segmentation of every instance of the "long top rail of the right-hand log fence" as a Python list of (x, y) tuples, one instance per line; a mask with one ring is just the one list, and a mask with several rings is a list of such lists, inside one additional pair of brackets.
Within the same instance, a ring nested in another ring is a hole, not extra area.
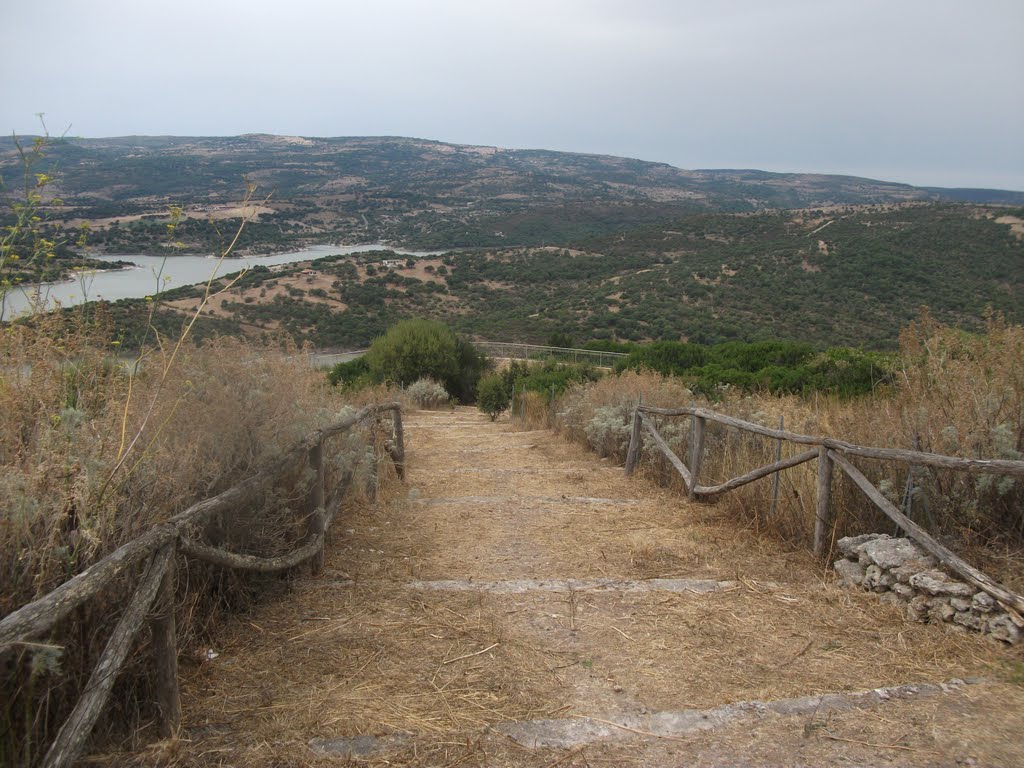
[(642, 406), (641, 410), (648, 414), (658, 416), (699, 416), (708, 421), (725, 424), (744, 432), (771, 437), (773, 439), (787, 440), (804, 445), (824, 445), (833, 451), (842, 451), (850, 456), (860, 456), (865, 459), (882, 459), (886, 461), (899, 461), (909, 464), (921, 464), (927, 467), (937, 467), (939, 469), (954, 469), (963, 472), (973, 472), (976, 474), (1004, 474), (1013, 477), (1024, 477), (1024, 461), (1014, 461), (1010, 459), (962, 459), (955, 456), (941, 456), (939, 454), (928, 454), (922, 451), (906, 451), (904, 449), (881, 449), (866, 445), (855, 445), (844, 440), (836, 440), (831, 437), (817, 437), (814, 435), (799, 434), (788, 432), (783, 429), (771, 429), (762, 427), (760, 424), (753, 424), (741, 419), (734, 419), (731, 416), (724, 416), (708, 411), (702, 408), (651, 408)]

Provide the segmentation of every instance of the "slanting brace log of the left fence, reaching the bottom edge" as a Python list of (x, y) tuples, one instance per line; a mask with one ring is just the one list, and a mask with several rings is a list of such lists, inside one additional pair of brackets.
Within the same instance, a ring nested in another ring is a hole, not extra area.
[(128, 651), (131, 650), (132, 641), (145, 620), (146, 611), (153, 604), (164, 579), (164, 571), (173, 557), (174, 545), (171, 543), (161, 547), (151, 559), (138, 589), (125, 608), (121, 621), (114, 628), (99, 662), (89, 676), (85, 692), (78, 700), (74, 712), (60, 726), (56, 738), (46, 753), (42, 763), (43, 768), (72, 765), (81, 754), (86, 739), (96, 724), (96, 719), (106, 705), (114, 681), (121, 672)]

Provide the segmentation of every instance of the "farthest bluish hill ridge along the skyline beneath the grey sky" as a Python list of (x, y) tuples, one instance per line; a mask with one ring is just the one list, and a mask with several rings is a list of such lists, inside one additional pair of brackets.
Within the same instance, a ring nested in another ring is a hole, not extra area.
[[(16, 160), (0, 140), (0, 172)], [(387, 210), (417, 206), (685, 202), (759, 210), (905, 201), (1024, 205), (1024, 193), (915, 187), (888, 181), (758, 170), (683, 170), (599, 155), (450, 144), (400, 137), (124, 136), (66, 138), (51, 151), (61, 195), (76, 205), (166, 198), (236, 200), (242, 177), (284, 199), (331, 197)], [(349, 208), (350, 206), (342, 206)]]

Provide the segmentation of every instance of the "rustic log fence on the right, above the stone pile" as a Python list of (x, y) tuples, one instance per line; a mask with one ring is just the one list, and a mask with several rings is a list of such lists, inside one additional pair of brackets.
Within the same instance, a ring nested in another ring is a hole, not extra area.
[[(684, 463), (669, 447), (669, 443), (658, 433), (657, 427), (651, 420), (651, 416), (689, 416), (690, 417), (690, 439), (688, 463)], [(700, 474), (700, 463), (703, 458), (705, 427), (707, 423), (716, 422), (727, 427), (739, 429), (743, 432), (771, 437), (776, 440), (786, 440), (788, 442), (810, 445), (811, 447), (802, 454), (782, 459), (764, 467), (759, 467), (746, 474), (733, 477), (718, 485), (701, 485), (698, 481)], [(997, 584), (973, 567), (965, 560), (956, 556), (941, 544), (939, 544), (927, 530), (904, 515), (885, 495), (879, 490), (864, 474), (851, 462), (850, 457), (860, 457), (864, 459), (882, 459), (897, 461), (910, 466), (936, 467), (942, 469), (952, 469), (963, 472), (988, 473), (1009, 475), (1012, 477), (1024, 477), (1024, 461), (1009, 461), (994, 459), (959, 459), (951, 456), (940, 456), (938, 454), (927, 454), (920, 451), (903, 451), (901, 449), (880, 449), (867, 447), (864, 445), (854, 445), (830, 437), (815, 437), (812, 435), (797, 434), (786, 432), (781, 429), (770, 429), (759, 424), (734, 419), (724, 416), (714, 411), (701, 408), (679, 408), (663, 409), (639, 406), (633, 416), (633, 432), (630, 436), (629, 453), (626, 456), (626, 473), (632, 474), (636, 469), (640, 458), (642, 446), (642, 432), (650, 435), (655, 447), (669, 460), (669, 463), (682, 476), (683, 483), (691, 499), (710, 499), (720, 494), (738, 488), (749, 482), (774, 474), (783, 469), (796, 467), (805, 462), (817, 460), (818, 480), (817, 499), (815, 506), (814, 524), (814, 553), (822, 555), (825, 551), (825, 543), (828, 530), (831, 526), (830, 496), (833, 468), (839, 467), (843, 472), (859, 487), (864, 495), (886, 515), (888, 515), (897, 525), (900, 526), (907, 536), (921, 545), (925, 550), (934, 555), (939, 562), (958, 573), (965, 581), (973, 584), (980, 590), (987, 592), (993, 598), (1002, 603), (1004, 606), (1012, 608), (1018, 613), (1024, 613), (1024, 597), (1011, 592), (1006, 587)]]

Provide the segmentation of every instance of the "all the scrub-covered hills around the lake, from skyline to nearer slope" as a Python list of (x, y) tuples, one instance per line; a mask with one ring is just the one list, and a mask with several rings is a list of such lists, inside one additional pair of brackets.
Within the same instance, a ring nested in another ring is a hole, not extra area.
[[(204, 321), (210, 333), (362, 345), (424, 315), (520, 341), (891, 348), (922, 304), (968, 329), (989, 306), (1024, 322), (1024, 193), (392, 137), (72, 138), (48, 159), (65, 201), (51, 217), (89, 221), (95, 250), (168, 253), (174, 203), (186, 214), (176, 248), (210, 253), (246, 212), (245, 178), (261, 205), (248, 209), (238, 252), (454, 251), (408, 266), (378, 254), (339, 256), (316, 275), (251, 273)], [(0, 140), (0, 173), (16, 172)], [(174, 301), (162, 322), (180, 322), (193, 300)], [(144, 316), (130, 304), (115, 314), (126, 329)]]

